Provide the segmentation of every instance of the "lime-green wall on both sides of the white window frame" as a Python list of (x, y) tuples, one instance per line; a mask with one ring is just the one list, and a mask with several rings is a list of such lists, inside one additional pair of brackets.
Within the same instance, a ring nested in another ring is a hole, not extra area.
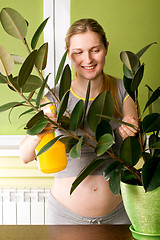
[[(0, 9), (12, 7), (18, 10), (29, 22), (27, 39), (30, 39), (39, 23), (42, 21), (43, 0), (0, 0)], [(104, 27), (108, 41), (109, 52), (105, 72), (122, 78), (122, 63), (119, 54), (123, 50), (137, 52), (151, 42), (157, 42), (142, 57), (145, 62), (144, 80), (140, 88), (140, 104), (147, 98), (145, 84), (153, 89), (159, 86), (160, 76), (160, 1), (159, 0), (71, 0), (71, 22), (84, 17), (95, 18)], [(0, 25), (0, 45), (11, 53), (25, 56), (26, 49), (19, 40), (7, 35)], [(15, 68), (15, 72), (16, 72)], [(0, 85), (0, 105), (6, 101), (16, 100), (16, 94), (8, 92)], [(23, 110), (13, 110), (12, 124), (8, 120), (8, 112), (0, 114), (0, 134), (25, 134), (23, 127), (26, 119), (18, 120)]]

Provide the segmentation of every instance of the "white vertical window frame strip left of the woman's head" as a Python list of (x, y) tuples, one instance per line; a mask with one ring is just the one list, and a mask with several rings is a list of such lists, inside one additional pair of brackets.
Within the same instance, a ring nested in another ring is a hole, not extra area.
[(44, 29), (44, 42), (48, 42), (48, 61), (45, 75), (51, 73), (48, 80), (54, 86), (55, 75), (65, 52), (65, 36), (70, 26), (70, 0), (43, 0), (44, 19), (50, 17)]

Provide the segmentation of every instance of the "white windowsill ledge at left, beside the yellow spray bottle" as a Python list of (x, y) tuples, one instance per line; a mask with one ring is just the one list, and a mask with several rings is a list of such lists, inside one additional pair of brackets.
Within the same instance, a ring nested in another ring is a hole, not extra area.
[(0, 156), (19, 156), (19, 144), (25, 135), (0, 135)]

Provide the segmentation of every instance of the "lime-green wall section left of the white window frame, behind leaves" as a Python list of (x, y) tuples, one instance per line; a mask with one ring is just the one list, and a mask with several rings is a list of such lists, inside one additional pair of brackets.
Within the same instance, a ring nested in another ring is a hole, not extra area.
[[(43, 21), (43, 0), (0, 0), (0, 11), (4, 7), (10, 7), (17, 10), (21, 15), (29, 22), (28, 33), (26, 39), (30, 44), (30, 39), (36, 31), (39, 24)], [(41, 38), (40, 43), (43, 39)], [(21, 56), (27, 56), (27, 50), (20, 40), (15, 39), (8, 35), (0, 24), (0, 45), (5, 47), (12, 54), (19, 54)], [(16, 74), (18, 67), (14, 68), (14, 74)], [(0, 84), (0, 105), (7, 102), (20, 100), (17, 94), (8, 91), (8, 88), (4, 84)], [(23, 130), (23, 124), (26, 119), (22, 117), (18, 119), (19, 113), (23, 110), (13, 110), (11, 114), (11, 124), (8, 120), (8, 111), (0, 113), (0, 135), (19, 135), (25, 134)]]

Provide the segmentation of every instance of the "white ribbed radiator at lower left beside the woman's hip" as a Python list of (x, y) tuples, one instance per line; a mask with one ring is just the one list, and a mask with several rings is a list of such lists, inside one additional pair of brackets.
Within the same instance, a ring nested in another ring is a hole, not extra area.
[(44, 225), (49, 188), (0, 188), (0, 225)]

